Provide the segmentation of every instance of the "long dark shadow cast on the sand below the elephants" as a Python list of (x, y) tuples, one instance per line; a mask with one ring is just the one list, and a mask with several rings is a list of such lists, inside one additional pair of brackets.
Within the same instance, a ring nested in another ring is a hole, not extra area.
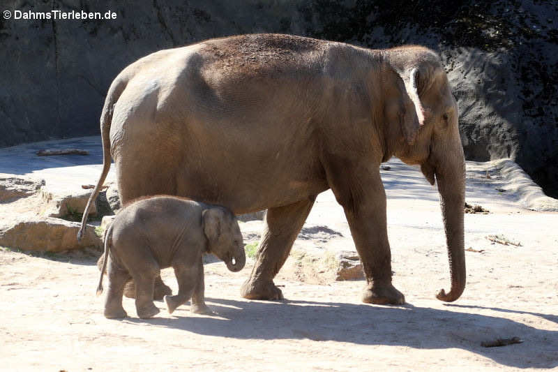
[[(309, 338), (314, 341), (400, 345), (419, 349), (458, 348), (488, 357), (504, 366), (543, 369), (558, 366), (558, 331), (536, 329), (522, 322), (496, 316), (462, 313), (451, 309), (423, 308), (411, 304), (391, 307), (289, 300), (207, 301), (218, 315), (193, 316), (190, 315), (188, 306), (181, 306), (171, 319), (127, 318), (125, 321), (229, 338)], [(481, 306), (453, 307), (523, 313)], [(527, 312), (525, 314), (558, 322), (555, 315)], [(522, 338), (524, 343), (505, 348), (481, 346), (482, 341), (513, 336)], [(533, 348), (533, 345), (536, 345), (536, 348)]]

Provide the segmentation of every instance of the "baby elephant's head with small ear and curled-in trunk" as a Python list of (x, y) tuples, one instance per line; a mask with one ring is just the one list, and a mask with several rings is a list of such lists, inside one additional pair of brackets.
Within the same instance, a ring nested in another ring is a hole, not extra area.
[(230, 271), (246, 264), (246, 253), (239, 223), (232, 212), (223, 207), (210, 207), (202, 214), (208, 251), (223, 260)]

